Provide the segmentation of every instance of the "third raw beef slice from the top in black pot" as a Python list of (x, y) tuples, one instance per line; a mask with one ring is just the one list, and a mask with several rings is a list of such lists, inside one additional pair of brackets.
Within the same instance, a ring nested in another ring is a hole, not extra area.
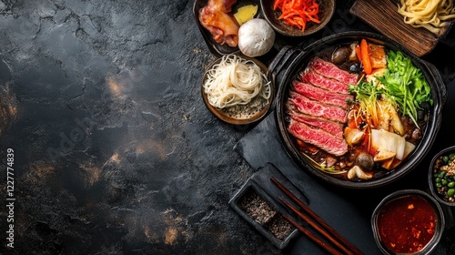
[(322, 103), (339, 106), (344, 109), (349, 108), (347, 101), (354, 99), (352, 95), (339, 94), (320, 87), (314, 87), (311, 84), (304, 82), (294, 81), (292, 83), (292, 88), (300, 95)]

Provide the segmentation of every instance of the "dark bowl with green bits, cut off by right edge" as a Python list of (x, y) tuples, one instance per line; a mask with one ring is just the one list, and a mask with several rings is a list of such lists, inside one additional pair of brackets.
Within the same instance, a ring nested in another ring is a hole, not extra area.
[(455, 146), (442, 149), (432, 158), (428, 181), (435, 199), (455, 207)]

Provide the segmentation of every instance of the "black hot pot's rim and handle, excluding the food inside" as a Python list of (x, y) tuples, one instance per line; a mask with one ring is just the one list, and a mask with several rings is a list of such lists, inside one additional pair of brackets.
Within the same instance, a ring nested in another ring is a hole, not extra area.
[[(330, 46), (349, 44), (353, 41), (360, 41), (362, 38), (366, 38), (370, 42), (386, 46), (392, 50), (399, 50), (405, 56), (410, 57), (412, 64), (420, 68), (423, 76), (425, 76), (430, 85), (433, 106), (428, 115), (427, 127), (422, 130), (420, 144), (416, 146), (410, 156), (400, 163), (399, 167), (387, 171), (378, 179), (352, 181), (339, 179), (315, 168), (307, 158), (304, 158), (304, 156), (301, 155), (296, 142), (288, 133), (286, 103), (292, 81), (298, 76), (302, 66), (307, 66), (308, 61), (313, 56), (317, 56), (320, 51)], [(284, 47), (278, 52), (278, 55), (268, 66), (268, 76), (274, 81), (275, 87), (278, 87), (278, 95), (276, 97), (276, 121), (279, 136), (288, 155), (302, 170), (308, 172), (314, 178), (328, 182), (331, 186), (338, 186), (341, 188), (377, 188), (404, 177), (413, 168), (418, 166), (421, 160), (429, 152), (438, 134), (441, 123), (442, 107), (447, 97), (447, 87), (444, 85), (440, 73), (435, 66), (420, 59), (418, 56), (413, 55), (407, 48), (399, 45), (397, 42), (392, 41), (385, 36), (369, 32), (351, 31), (327, 36), (303, 49), (290, 46)]]

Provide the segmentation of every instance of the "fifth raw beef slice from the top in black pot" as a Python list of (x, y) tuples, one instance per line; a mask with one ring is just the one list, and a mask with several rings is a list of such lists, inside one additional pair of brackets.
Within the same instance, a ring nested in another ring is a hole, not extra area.
[(315, 128), (321, 128), (334, 137), (342, 139), (343, 138), (343, 124), (335, 121), (330, 121), (329, 119), (325, 119), (322, 117), (313, 117), (303, 113), (299, 113), (296, 109), (293, 109), (291, 105), (288, 105), (288, 115), (292, 119), (305, 123), (309, 126)]

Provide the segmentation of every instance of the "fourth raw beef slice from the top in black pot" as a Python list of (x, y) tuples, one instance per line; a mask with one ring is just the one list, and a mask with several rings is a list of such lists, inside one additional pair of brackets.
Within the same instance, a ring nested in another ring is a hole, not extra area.
[(296, 92), (289, 92), (289, 102), (293, 104), (299, 112), (314, 117), (325, 117), (331, 120), (345, 123), (348, 111), (341, 107), (331, 106), (319, 101), (311, 100)]

